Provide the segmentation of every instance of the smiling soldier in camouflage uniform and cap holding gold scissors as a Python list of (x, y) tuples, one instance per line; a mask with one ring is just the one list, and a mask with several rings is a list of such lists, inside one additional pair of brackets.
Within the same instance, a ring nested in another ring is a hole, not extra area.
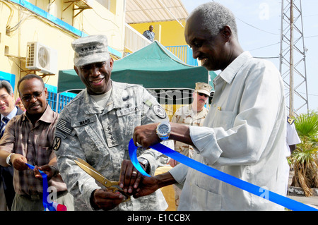
[[(55, 150), (59, 171), (74, 197), (75, 209), (165, 210), (167, 203), (160, 190), (124, 202), (122, 193), (105, 189), (73, 161), (81, 158), (110, 181), (119, 181), (122, 162), (129, 159), (128, 144), (135, 126), (168, 119), (146, 89), (110, 80), (113, 60), (107, 50), (107, 37), (82, 37), (73, 41), (72, 47), (74, 68), (86, 89), (61, 111)], [(173, 148), (173, 142), (167, 143), (172, 143)], [(167, 160), (155, 150), (139, 152), (139, 162), (150, 174)], [(134, 183), (141, 176), (136, 175), (130, 160), (125, 162), (130, 166), (128, 175)]]

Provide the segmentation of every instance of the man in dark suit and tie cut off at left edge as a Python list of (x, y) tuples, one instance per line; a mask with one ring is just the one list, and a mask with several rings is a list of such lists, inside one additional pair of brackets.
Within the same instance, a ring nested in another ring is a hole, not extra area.
[[(0, 80), (0, 138), (4, 135), (6, 123), (23, 111), (13, 101), (13, 88), (6, 80)], [(0, 166), (0, 211), (11, 210), (15, 192), (13, 188), (13, 166)]]

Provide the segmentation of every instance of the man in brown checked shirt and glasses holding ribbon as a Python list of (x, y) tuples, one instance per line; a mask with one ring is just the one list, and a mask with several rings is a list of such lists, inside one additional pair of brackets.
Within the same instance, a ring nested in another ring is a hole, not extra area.
[[(12, 211), (44, 210), (39, 169), (47, 174), (52, 197), (57, 197), (53, 200), (71, 210), (73, 200), (57, 170), (57, 157), (52, 150), (59, 114), (47, 104), (47, 88), (40, 76), (25, 75), (18, 82), (18, 91), (26, 112), (11, 118), (0, 140), (0, 164), (14, 168), (16, 195)], [(34, 171), (25, 163), (34, 165)]]

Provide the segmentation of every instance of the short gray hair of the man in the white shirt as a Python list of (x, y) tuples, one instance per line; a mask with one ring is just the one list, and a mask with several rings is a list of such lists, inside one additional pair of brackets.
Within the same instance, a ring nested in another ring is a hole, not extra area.
[(218, 35), (220, 30), (222, 30), (225, 25), (228, 25), (232, 30), (232, 34), (237, 39), (235, 16), (225, 6), (216, 2), (208, 2), (194, 8), (189, 18), (197, 15), (203, 18), (202, 27), (204, 30), (209, 30), (212, 36)]

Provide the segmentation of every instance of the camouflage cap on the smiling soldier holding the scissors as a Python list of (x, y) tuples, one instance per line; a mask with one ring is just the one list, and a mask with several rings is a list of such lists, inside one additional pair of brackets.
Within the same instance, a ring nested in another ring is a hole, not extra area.
[(105, 35), (90, 35), (78, 38), (72, 42), (72, 47), (75, 51), (75, 66), (84, 66), (110, 59)]

